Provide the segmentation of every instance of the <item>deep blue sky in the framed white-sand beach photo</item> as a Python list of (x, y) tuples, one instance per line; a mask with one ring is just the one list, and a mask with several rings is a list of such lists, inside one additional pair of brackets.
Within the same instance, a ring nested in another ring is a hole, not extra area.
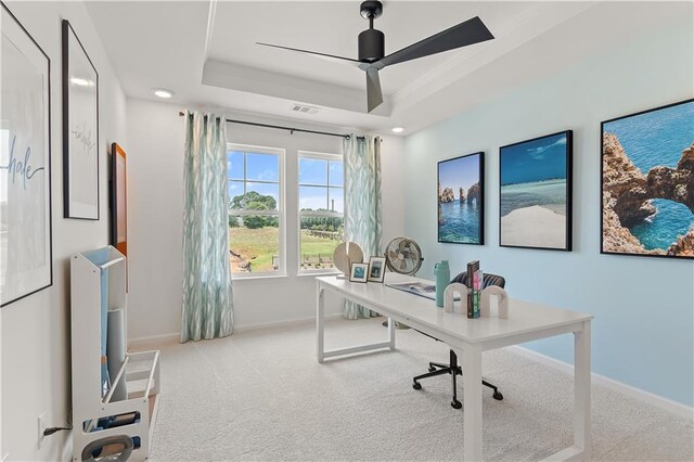
[(503, 147), (501, 184), (566, 178), (566, 133)]

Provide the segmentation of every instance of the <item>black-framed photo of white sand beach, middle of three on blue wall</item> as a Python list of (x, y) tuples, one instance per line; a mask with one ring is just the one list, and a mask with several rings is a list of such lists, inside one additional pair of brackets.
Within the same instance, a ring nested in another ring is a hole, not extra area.
[(499, 245), (571, 249), (573, 132), (499, 149)]

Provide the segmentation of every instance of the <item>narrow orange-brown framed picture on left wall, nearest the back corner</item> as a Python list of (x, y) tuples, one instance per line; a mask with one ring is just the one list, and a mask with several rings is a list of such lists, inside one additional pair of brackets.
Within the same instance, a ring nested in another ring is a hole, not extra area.
[(111, 245), (128, 256), (128, 175), (126, 152), (111, 144)]

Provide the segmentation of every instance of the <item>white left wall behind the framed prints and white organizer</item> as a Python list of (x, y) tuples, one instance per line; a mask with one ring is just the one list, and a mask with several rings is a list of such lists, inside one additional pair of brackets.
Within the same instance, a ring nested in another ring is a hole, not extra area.
[[(69, 459), (69, 432), (37, 447), (37, 416), (65, 426), (70, 399), (69, 256), (108, 243), (107, 149), (126, 143), (126, 99), (82, 3), (7, 2), (51, 60), (51, 179), (53, 285), (0, 310), (2, 423), (0, 459)], [(87, 49), (100, 84), (99, 221), (63, 219), (61, 21), (73, 25)]]

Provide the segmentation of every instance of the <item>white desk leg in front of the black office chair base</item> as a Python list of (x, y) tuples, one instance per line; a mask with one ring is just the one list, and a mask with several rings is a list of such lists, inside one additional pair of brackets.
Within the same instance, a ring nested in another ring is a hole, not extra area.
[(466, 346), (462, 359), (465, 423), (463, 459), (479, 461), (481, 460), (481, 348), (478, 345)]

